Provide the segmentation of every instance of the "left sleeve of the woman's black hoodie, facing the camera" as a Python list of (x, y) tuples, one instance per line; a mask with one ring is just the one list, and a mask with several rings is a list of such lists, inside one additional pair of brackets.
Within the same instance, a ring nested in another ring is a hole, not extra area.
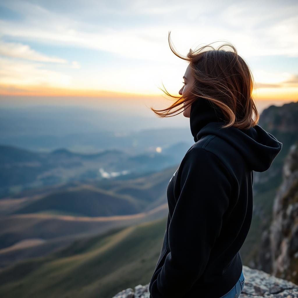
[(152, 283), (150, 298), (184, 297), (201, 277), (229, 206), (231, 182), (214, 153), (203, 148), (186, 153), (168, 231), (170, 252)]

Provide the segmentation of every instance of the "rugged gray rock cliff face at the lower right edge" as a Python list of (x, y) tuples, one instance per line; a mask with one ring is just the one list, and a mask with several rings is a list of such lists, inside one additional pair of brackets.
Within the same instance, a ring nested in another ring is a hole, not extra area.
[[(263, 231), (258, 261), (253, 268), (297, 283), (298, 143), (290, 147), (283, 165), (283, 182), (272, 208), (272, 221)], [(251, 264), (249, 264), (251, 265)]]

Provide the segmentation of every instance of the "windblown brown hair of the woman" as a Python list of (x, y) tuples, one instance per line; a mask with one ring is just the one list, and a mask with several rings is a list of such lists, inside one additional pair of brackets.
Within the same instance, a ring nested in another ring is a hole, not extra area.
[[(173, 117), (175, 115), (172, 114), (177, 111), (182, 110), (178, 114), (183, 112), (184, 105), (171, 111), (173, 108), (183, 104), (184, 101), (187, 108), (202, 97), (221, 109), (228, 123), (223, 128), (234, 126), (248, 129), (257, 125), (260, 115), (252, 97), (253, 75), (244, 59), (238, 55), (235, 46), (226, 42), (215, 49), (211, 43), (195, 51), (190, 49), (184, 57), (179, 55), (171, 45), (170, 33), (168, 36), (170, 49), (176, 56), (190, 63), (195, 83), (182, 96), (169, 94), (162, 84), (165, 91), (159, 89), (178, 100), (162, 110), (155, 110), (152, 107), (150, 109), (161, 118)], [(211, 49), (208, 50), (208, 47)], [(232, 50), (226, 50), (225, 47)], [(254, 119), (252, 119), (253, 112)]]

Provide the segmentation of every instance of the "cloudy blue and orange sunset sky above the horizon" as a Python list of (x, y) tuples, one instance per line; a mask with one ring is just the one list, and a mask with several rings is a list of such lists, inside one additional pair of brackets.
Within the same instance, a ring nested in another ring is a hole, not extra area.
[(178, 95), (187, 62), (171, 31), (184, 56), (232, 43), (256, 100), (297, 101), (297, 25), (297, 1), (0, 0), (0, 95)]

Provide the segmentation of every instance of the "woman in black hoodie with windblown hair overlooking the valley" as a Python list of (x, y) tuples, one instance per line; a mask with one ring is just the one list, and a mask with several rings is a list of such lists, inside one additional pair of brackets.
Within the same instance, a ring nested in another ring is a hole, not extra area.
[(283, 145), (257, 125), (252, 75), (235, 47), (208, 47), (184, 58), (170, 44), (189, 62), (181, 97), (166, 92), (178, 100), (164, 110), (151, 108), (162, 117), (183, 108), (195, 144), (167, 186), (167, 227), (150, 298), (240, 296), (239, 250), (252, 220), (253, 171), (268, 170)]

